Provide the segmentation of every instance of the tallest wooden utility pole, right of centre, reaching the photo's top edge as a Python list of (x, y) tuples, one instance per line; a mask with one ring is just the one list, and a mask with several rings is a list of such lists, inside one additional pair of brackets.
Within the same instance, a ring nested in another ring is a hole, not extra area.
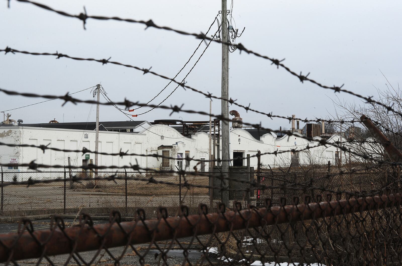
[[(228, 95), (228, 20), (226, 19), (226, 0), (222, 0), (222, 99), (229, 99)], [(229, 108), (228, 101), (221, 100), (222, 107), (222, 202), (229, 207)]]

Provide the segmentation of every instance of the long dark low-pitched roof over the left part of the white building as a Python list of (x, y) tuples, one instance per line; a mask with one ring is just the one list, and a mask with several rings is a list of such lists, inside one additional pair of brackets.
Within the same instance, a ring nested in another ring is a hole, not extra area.
[[(107, 121), (99, 122), (99, 130), (106, 130), (106, 128), (114, 127), (136, 127), (142, 121)], [(42, 124), (21, 124), (21, 126), (32, 126), (35, 128), (65, 128), (65, 129), (79, 129), (79, 130), (95, 130), (96, 122), (69, 122), (69, 123), (42, 123)]]

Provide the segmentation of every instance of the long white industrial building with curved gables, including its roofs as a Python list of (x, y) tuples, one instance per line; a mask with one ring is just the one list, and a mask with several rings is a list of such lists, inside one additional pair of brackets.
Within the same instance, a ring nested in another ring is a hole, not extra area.
[[(100, 153), (135, 153), (130, 156), (99, 155), (98, 165), (107, 167), (124, 167), (138, 165), (142, 168), (175, 169), (176, 166), (198, 171), (208, 169), (208, 162), (185, 160), (186, 156), (198, 160), (209, 159), (209, 126), (208, 131), (197, 130), (189, 136), (183, 136), (178, 127), (166, 124), (152, 124), (147, 121), (122, 121), (100, 122), (99, 126), (99, 152)], [(205, 126), (204, 126), (205, 128)], [(8, 144), (44, 145), (52, 148), (66, 150), (82, 150), (86, 148), (95, 150), (95, 124), (90, 123), (54, 123), (54, 124), (21, 124), (0, 125), (0, 142)], [(342, 153), (336, 146), (322, 146), (317, 141), (306, 140), (301, 134), (295, 132), (293, 136), (278, 137), (271, 131), (233, 128), (230, 131), (230, 158), (251, 156), (250, 165), (256, 167), (257, 157), (261, 152), (261, 164), (266, 167), (289, 166), (292, 160), (301, 164), (326, 164), (330, 161), (336, 163), (336, 159), (344, 160)], [(215, 135), (217, 136), (217, 135)], [(212, 136), (213, 138), (213, 136)], [(334, 135), (327, 141), (342, 140)], [(215, 138), (216, 143), (221, 143)], [(219, 144), (218, 144), (219, 145)], [(306, 147), (311, 147), (308, 150)], [(292, 149), (300, 152), (290, 152)], [(38, 165), (56, 165), (68, 167), (68, 157), (71, 165), (82, 166), (92, 163), (93, 153), (77, 153), (45, 150), (24, 146), (0, 146), (0, 162), (2, 164), (13, 163), (12, 167), (3, 167), (3, 171), (27, 171), (27, 167), (19, 164), (35, 161)], [(220, 152), (222, 151), (219, 148)], [(278, 151), (279, 154), (266, 154)], [(281, 153), (286, 151), (285, 153)], [(289, 152), (287, 152), (289, 151)], [(217, 152), (215, 152), (217, 153)], [(140, 155), (165, 155), (177, 159), (161, 159)], [(213, 148), (212, 148), (213, 154)], [(338, 155), (339, 154), (339, 155)], [(254, 157), (253, 157), (254, 156)], [(346, 156), (344, 156), (346, 158)], [(234, 166), (245, 166), (246, 159), (234, 160)], [(8, 169), (5, 169), (8, 168)], [(39, 170), (49, 170), (42, 169)], [(54, 170), (54, 169), (53, 169)], [(109, 170), (110, 171), (110, 170)]]

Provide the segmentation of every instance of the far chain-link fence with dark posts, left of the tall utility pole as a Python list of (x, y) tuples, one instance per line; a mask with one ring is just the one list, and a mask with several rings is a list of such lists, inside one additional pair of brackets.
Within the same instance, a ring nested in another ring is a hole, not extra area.
[[(40, 214), (106, 214), (119, 210), (132, 216), (135, 208), (148, 210), (153, 217), (158, 206), (177, 210), (180, 204), (189, 206), (191, 213), (196, 213), (200, 202), (210, 203), (212, 190), (208, 187), (213, 177), (212, 172), (182, 173), (146, 173), (134, 171), (26, 171), (2, 172), (2, 215), (29, 216)], [(87, 180), (72, 181), (71, 177)], [(254, 172), (247, 173), (254, 180)], [(100, 180), (93, 179), (97, 176)], [(53, 181), (58, 178), (60, 181)], [(232, 174), (232, 178), (238, 178)], [(10, 184), (35, 180), (37, 184)], [(51, 181), (51, 182), (47, 182)], [(216, 181), (215, 181), (216, 183)], [(221, 184), (217, 185), (221, 186)], [(239, 184), (236, 184), (240, 189)], [(249, 185), (250, 186), (250, 185)], [(215, 188), (219, 190), (219, 188)], [(220, 200), (220, 192), (216, 192)], [(241, 192), (231, 200), (244, 200)], [(244, 202), (244, 206), (249, 203)]]

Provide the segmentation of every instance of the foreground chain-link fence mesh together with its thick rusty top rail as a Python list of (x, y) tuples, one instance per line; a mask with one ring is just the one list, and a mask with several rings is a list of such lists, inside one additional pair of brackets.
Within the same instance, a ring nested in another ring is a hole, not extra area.
[[(160, 207), (157, 219), (146, 219), (140, 208), (134, 221), (112, 212), (102, 225), (82, 214), (68, 226), (54, 215), (45, 230), (25, 219), (18, 232), (0, 235), (0, 261), (121, 265), (130, 257), (140, 265), (399, 265), (401, 201), (400, 193), (304, 204), (295, 198), (285, 206), (271, 206), (267, 198), (260, 208), (242, 210), (234, 202), (233, 210), (219, 204), (214, 213), (200, 204), (194, 215), (183, 205), (171, 217)], [(172, 259), (172, 250), (181, 256)], [(195, 250), (199, 257), (192, 260)]]

